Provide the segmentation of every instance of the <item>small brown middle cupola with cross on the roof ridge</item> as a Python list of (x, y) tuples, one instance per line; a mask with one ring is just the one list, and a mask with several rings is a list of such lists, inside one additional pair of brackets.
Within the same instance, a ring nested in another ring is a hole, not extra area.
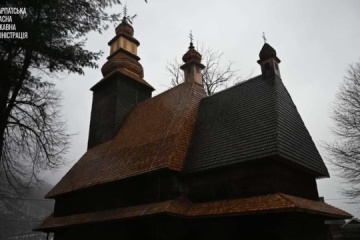
[(201, 64), (201, 54), (198, 53), (193, 44), (193, 35), (190, 31), (190, 46), (189, 50), (184, 54), (182, 60), (184, 64), (180, 67), (185, 74), (185, 82), (193, 83), (196, 82), (202, 85), (202, 74), (201, 70), (205, 68), (203, 64)]

